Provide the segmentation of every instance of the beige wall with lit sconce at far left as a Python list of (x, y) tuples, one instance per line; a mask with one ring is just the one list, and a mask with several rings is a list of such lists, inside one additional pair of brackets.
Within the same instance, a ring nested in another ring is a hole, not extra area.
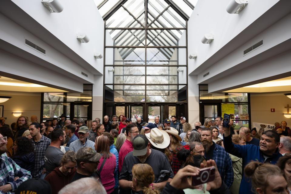
[(25, 92), (0, 92), (3, 96), (12, 98), (6, 102), (0, 103), (4, 106), (3, 116), (7, 117), (5, 124), (10, 125), (16, 122), (18, 117), (12, 115), (12, 112), (22, 112), (21, 116), (27, 116), (29, 121), (32, 115), (37, 115), (38, 122), (40, 118), (41, 93)]

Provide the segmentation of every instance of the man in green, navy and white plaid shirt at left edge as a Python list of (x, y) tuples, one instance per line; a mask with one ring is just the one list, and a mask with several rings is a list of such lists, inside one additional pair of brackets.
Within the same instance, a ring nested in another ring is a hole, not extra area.
[[(7, 137), (0, 134), (0, 155), (7, 151)], [(14, 180), (15, 177), (19, 179)], [(7, 156), (0, 156), (0, 192), (11, 193), (14, 192), (18, 186), (31, 179), (30, 172), (20, 168), (11, 158)]]

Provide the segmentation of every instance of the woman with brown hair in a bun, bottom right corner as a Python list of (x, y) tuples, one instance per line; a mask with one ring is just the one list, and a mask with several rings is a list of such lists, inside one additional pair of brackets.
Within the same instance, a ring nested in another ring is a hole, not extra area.
[[(252, 190), (258, 194), (289, 194), (281, 169), (269, 163), (249, 162), (244, 173), (252, 180)], [(251, 191), (250, 191), (251, 192)]]

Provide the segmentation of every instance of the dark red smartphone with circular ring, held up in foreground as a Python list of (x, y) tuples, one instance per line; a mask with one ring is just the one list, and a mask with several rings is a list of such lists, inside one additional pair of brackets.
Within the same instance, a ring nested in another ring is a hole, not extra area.
[(192, 176), (192, 186), (201, 185), (206, 182), (211, 182), (215, 178), (215, 167), (210, 166), (200, 169), (199, 175)]

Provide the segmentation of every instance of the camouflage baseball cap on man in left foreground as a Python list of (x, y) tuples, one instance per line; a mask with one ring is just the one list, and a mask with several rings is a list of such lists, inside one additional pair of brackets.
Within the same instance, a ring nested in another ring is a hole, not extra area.
[(79, 149), (76, 154), (76, 160), (79, 162), (82, 161), (98, 162), (100, 158), (101, 154), (99, 154), (94, 149), (89, 147)]

